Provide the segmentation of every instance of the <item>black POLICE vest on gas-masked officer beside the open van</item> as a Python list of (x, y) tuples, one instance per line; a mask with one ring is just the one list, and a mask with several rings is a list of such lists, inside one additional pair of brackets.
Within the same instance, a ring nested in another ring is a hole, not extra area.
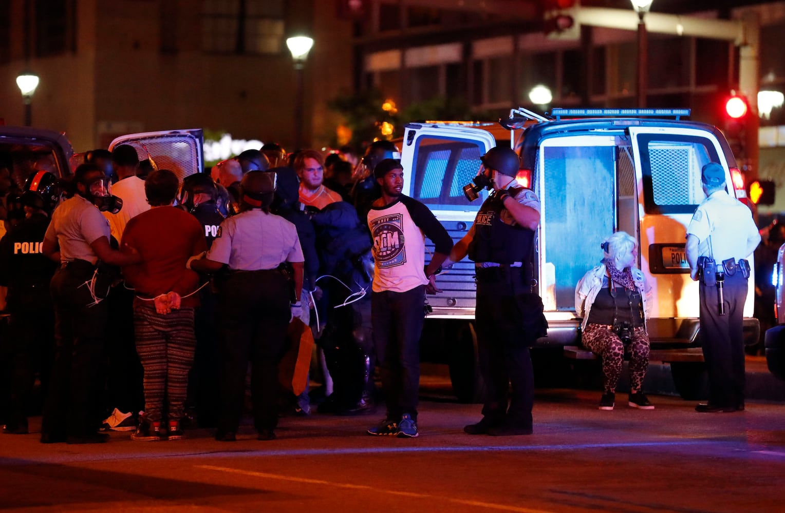
[(495, 195), (480, 206), (474, 220), (474, 238), (469, 242), (469, 259), (497, 264), (526, 263), (535, 232), (502, 221), (504, 205)]

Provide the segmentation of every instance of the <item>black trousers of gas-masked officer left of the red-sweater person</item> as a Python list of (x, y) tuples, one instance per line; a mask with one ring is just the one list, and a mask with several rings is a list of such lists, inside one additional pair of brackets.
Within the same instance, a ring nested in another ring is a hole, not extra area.
[(55, 312), (55, 359), (44, 403), (44, 435), (84, 436), (100, 422), (98, 391), (103, 380), (107, 304), (92, 304), (83, 284), (93, 278), (93, 266), (73, 260), (55, 272), (50, 290)]

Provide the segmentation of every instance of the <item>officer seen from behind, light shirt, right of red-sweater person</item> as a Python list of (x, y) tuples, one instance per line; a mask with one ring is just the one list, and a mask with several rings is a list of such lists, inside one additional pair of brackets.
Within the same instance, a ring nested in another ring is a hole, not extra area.
[[(294, 224), (270, 213), (276, 173), (249, 171), (240, 184), (240, 213), (221, 224), (221, 234), (196, 271), (219, 271), (223, 334), (221, 398), (223, 411), (215, 438), (234, 442), (243, 412), (245, 376), (251, 362), (251, 397), (258, 439), (276, 438), (278, 364), (287, 350), (287, 326), (301, 314), (303, 255)], [(290, 288), (285, 262), (294, 269)], [(290, 303), (291, 299), (291, 303)]]

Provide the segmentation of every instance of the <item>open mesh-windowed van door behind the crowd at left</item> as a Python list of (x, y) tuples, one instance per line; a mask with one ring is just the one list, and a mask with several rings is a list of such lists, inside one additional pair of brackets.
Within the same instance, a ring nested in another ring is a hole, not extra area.
[(130, 133), (111, 141), (109, 151), (119, 144), (130, 144), (139, 160), (152, 159), (156, 168), (169, 169), (181, 182), (204, 168), (202, 129)]

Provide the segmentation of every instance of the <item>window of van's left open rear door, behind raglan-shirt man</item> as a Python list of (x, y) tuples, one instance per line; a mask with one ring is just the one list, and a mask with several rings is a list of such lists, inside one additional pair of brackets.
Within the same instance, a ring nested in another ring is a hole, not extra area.
[[(411, 196), (439, 209), (466, 210), (473, 204), (463, 195), (463, 186), (476, 176), (483, 154), (484, 148), (472, 140), (421, 137), (414, 153)], [(480, 198), (486, 197), (482, 191)]]

